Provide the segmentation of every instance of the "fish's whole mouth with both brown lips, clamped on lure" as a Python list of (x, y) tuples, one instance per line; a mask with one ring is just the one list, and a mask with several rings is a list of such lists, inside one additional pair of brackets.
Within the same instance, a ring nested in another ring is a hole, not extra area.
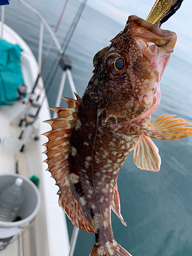
[(175, 32), (161, 29), (136, 15), (129, 16), (127, 26), (134, 36), (146, 42), (153, 42), (157, 47), (166, 48), (168, 51), (173, 51), (175, 47), (177, 41)]

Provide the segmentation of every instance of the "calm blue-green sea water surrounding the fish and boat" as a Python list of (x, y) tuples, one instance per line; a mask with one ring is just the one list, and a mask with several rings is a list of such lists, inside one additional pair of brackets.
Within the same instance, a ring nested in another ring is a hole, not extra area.
[[(6, 7), (5, 23), (24, 38), (35, 57), (38, 50), (39, 21), (35, 14), (16, 0)], [(64, 1), (28, 1), (54, 28)], [(55, 3), (57, 3), (55, 5)], [(127, 1), (129, 4), (129, 1)], [(80, 2), (70, 0), (57, 37), (62, 43)], [(135, 13), (137, 14), (137, 13)], [(125, 20), (126, 22), (126, 20)], [(166, 26), (164, 26), (166, 28)], [(67, 54), (70, 56), (77, 93), (82, 96), (92, 76), (95, 53), (109, 45), (123, 26), (86, 7), (76, 28)], [(51, 38), (44, 30), (44, 54)], [(47, 79), (55, 61), (53, 46), (45, 69)], [(161, 81), (161, 103), (152, 120), (162, 114), (175, 114), (192, 122), (192, 65), (174, 53)], [(48, 92), (50, 106), (55, 105), (61, 77), (60, 68)], [(46, 84), (46, 87), (48, 83)], [(63, 96), (72, 97), (68, 82)], [(63, 101), (62, 105), (65, 104)], [(155, 141), (162, 164), (159, 173), (138, 169), (129, 155), (120, 169), (118, 188), (124, 227), (112, 212), (114, 236), (133, 256), (191, 256), (192, 255), (192, 136), (178, 141)], [(72, 225), (68, 221), (71, 235)], [(88, 256), (94, 235), (80, 230), (75, 256)]]

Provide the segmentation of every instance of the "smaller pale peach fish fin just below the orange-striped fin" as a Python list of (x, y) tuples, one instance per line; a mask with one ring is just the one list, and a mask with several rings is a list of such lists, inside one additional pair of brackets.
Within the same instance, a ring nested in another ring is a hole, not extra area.
[(138, 168), (159, 172), (161, 158), (155, 143), (145, 135), (141, 135), (134, 147), (134, 163)]

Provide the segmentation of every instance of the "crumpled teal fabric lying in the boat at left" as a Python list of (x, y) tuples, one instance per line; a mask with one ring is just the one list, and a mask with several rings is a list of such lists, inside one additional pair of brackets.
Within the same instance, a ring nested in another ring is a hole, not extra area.
[(22, 49), (0, 40), (0, 105), (12, 104), (18, 98), (17, 88), (24, 83), (20, 67)]

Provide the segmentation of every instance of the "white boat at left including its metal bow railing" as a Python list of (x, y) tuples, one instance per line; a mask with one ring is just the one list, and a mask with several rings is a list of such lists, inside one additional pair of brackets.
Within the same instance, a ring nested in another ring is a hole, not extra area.
[[(27, 103), (23, 103), (22, 100), (16, 100), (11, 102), (12, 105), (1, 105), (0, 107), (0, 138), (3, 143), (0, 145), (0, 174), (14, 174), (17, 169), (17, 173), (26, 178), (34, 175), (38, 177), (40, 180), (38, 190), (41, 203), (36, 218), (30, 225), (23, 228), (22, 237), (19, 237), (18, 234), (16, 239), (11, 241), (0, 252), (2, 256), (65, 256), (68, 255), (70, 249), (66, 217), (62, 209), (58, 206), (58, 196), (56, 195), (58, 187), (54, 186), (55, 181), (50, 179), (50, 173), (45, 172), (47, 164), (43, 163), (43, 161), (46, 159), (46, 155), (41, 154), (46, 150), (46, 147), (42, 147), (41, 145), (47, 142), (47, 138), (40, 136), (40, 134), (50, 130), (49, 124), (43, 123), (42, 121), (51, 118), (50, 112), (47, 109), (48, 101), (41, 77), (38, 79), (33, 93), (34, 99), (38, 95), (41, 95), (41, 99), (45, 99), (40, 108), (38, 118), (35, 119), (32, 125), (22, 125), (22, 120), (26, 118), (28, 112), (34, 111), (35, 109), (34, 105), (29, 103), (29, 98), (31, 97), (32, 89), (39, 74), (39, 67), (41, 67), (42, 33), (44, 27), (48, 29), (60, 52), (61, 47), (53, 31), (40, 13), (24, 1), (19, 0), (19, 2), (33, 11), (40, 20), (39, 54), (37, 63), (31, 49), (22, 37), (4, 23), (4, 7), (2, 6), (2, 22), (0, 24), (1, 39), (6, 40), (10, 44), (18, 45), (23, 50), (20, 61), (24, 83), (27, 86), (27, 94), (29, 96), (24, 99)], [(21, 138), (23, 132), (26, 135), (24, 139)], [(32, 232), (30, 226), (33, 227)], [(20, 244), (22, 242), (23, 245)]]

